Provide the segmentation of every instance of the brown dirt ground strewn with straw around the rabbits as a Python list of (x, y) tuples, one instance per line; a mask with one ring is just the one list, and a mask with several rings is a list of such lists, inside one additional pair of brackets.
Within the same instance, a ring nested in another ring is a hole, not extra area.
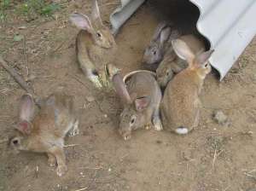
[[(99, 2), (108, 23), (116, 2)], [(159, 20), (153, 4), (149, 1), (138, 9), (116, 37), (118, 67), (124, 73), (141, 67), (143, 49)], [(61, 87), (75, 97), (81, 113), (79, 136), (67, 137), (64, 177), (56, 176), (44, 154), (15, 155), (8, 139), (24, 90), (0, 68), (0, 190), (255, 190), (256, 38), (221, 83), (216, 72), (207, 77), (201, 94), (201, 123), (188, 136), (137, 130), (125, 142), (117, 132), (122, 108), (118, 97), (113, 91), (95, 90), (76, 62), (78, 30), (70, 25), (68, 15), (74, 10), (88, 13), (89, 8), (90, 1), (65, 1), (54, 18), (29, 22), (10, 12), (0, 27), (1, 54), (25, 78), (28, 66), (35, 92), (48, 96)], [(14, 42), (15, 34), (24, 35), (26, 41)], [(228, 116), (229, 124), (212, 119), (218, 109)]]

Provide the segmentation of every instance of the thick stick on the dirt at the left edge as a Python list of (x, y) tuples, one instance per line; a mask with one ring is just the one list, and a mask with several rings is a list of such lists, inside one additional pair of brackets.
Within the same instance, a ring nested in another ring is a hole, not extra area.
[(31, 94), (33, 97), (36, 97), (34, 91), (31, 87), (26, 84), (25, 80), (15, 71), (14, 68), (9, 67), (7, 62), (3, 60), (3, 57), (0, 55), (0, 63), (2, 64), (3, 68), (9, 72), (9, 74), (15, 79), (15, 81), (20, 84), (20, 87), (23, 90), (26, 90), (27, 93)]

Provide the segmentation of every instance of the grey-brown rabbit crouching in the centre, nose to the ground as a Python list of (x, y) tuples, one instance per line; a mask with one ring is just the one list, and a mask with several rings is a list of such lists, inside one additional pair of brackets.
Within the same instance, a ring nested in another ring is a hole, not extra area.
[(119, 122), (120, 135), (128, 140), (132, 130), (150, 127), (152, 123), (154, 130), (162, 130), (159, 111), (161, 91), (152, 73), (137, 71), (126, 77), (124, 82), (119, 73), (113, 75), (113, 87), (124, 102)]

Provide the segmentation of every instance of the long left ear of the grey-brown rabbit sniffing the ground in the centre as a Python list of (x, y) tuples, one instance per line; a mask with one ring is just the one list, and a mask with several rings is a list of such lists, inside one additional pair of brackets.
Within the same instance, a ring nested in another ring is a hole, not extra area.
[(113, 87), (116, 93), (119, 95), (119, 97), (126, 103), (131, 104), (131, 96), (129, 95), (126, 89), (125, 83), (121, 78), (120, 74), (117, 73), (113, 75), (112, 81), (113, 81)]

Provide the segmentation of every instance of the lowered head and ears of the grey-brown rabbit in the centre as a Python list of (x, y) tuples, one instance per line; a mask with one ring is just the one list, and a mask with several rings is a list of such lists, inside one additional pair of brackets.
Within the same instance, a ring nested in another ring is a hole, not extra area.
[(113, 76), (113, 86), (125, 105), (120, 114), (119, 134), (128, 140), (131, 138), (132, 130), (137, 130), (145, 124), (143, 111), (148, 107), (150, 99), (148, 96), (130, 96), (119, 74)]

